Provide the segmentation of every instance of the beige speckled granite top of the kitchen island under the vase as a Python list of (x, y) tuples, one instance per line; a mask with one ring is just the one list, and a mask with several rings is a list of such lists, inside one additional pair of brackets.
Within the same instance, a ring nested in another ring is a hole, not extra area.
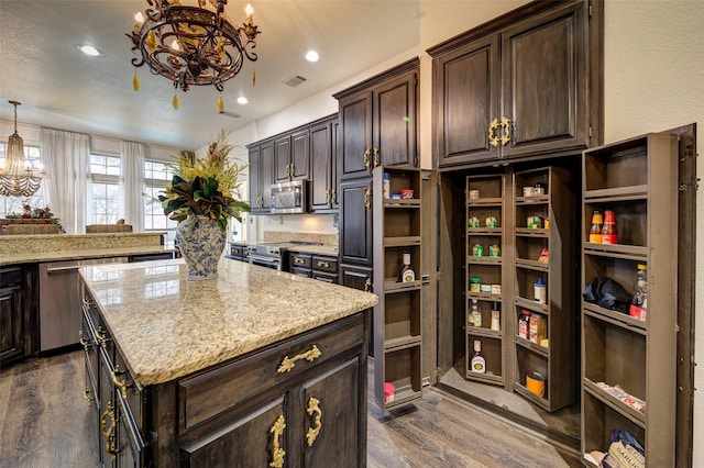
[(134, 380), (167, 382), (376, 304), (375, 294), (229, 261), (187, 281), (183, 259), (81, 268)]

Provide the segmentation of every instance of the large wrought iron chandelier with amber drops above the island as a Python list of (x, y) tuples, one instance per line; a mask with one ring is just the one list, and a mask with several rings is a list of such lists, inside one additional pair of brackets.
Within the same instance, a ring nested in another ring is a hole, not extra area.
[[(198, 7), (183, 5), (179, 0), (146, 2), (148, 7), (134, 15), (134, 29), (128, 34), (138, 55), (132, 58), (135, 91), (140, 89), (136, 67), (146, 64), (154, 75), (173, 81), (173, 104), (178, 110), (179, 88), (186, 92), (190, 86), (212, 85), (222, 92), (222, 83), (240, 73), (245, 57), (258, 58), (254, 48), (260, 31), (252, 22), (252, 5), (246, 5), (244, 23), (235, 26), (224, 13), (228, 0), (197, 0)], [(223, 110), (222, 96), (218, 110)]]

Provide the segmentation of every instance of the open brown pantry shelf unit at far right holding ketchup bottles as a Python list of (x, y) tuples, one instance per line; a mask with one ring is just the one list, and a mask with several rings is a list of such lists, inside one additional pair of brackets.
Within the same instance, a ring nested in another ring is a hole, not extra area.
[[(582, 450), (607, 452), (620, 430), (647, 466), (674, 466), (678, 140), (638, 136), (585, 151), (582, 164), (582, 283), (607, 277), (632, 294), (638, 265), (648, 278), (645, 316), (582, 300)], [(587, 242), (594, 210), (614, 211), (618, 244)]]

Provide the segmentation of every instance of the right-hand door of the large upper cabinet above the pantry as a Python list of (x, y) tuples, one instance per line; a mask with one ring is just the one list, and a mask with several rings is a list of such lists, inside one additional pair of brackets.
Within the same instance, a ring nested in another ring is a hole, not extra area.
[(504, 157), (588, 145), (588, 2), (574, 2), (502, 34)]

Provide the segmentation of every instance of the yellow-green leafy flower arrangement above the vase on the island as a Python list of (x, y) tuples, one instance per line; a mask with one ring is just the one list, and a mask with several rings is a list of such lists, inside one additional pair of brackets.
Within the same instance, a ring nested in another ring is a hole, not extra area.
[(222, 231), (230, 218), (241, 222), (242, 213), (250, 211), (249, 203), (239, 199), (240, 176), (246, 164), (228, 159), (233, 148), (221, 130), (205, 158), (176, 156), (177, 163), (169, 165), (175, 172), (172, 182), (158, 196), (164, 214), (174, 221), (183, 221), (189, 214), (208, 216), (218, 220)]

